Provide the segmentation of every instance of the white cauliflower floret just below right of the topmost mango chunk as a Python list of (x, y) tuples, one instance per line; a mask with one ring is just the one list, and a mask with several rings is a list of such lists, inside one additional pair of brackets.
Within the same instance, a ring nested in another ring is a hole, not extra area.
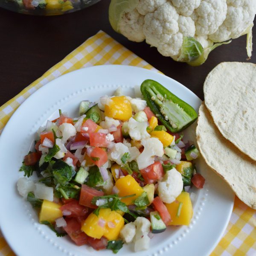
[(142, 140), (150, 137), (147, 131), (148, 122), (137, 122), (130, 118), (127, 124), (128, 133), (133, 140)]

